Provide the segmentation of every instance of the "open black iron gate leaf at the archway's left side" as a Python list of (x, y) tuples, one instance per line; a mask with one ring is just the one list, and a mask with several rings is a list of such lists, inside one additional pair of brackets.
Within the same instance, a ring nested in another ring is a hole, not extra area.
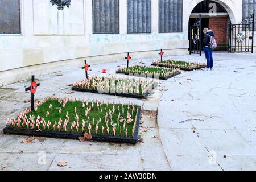
[(202, 15), (196, 19), (196, 22), (189, 25), (189, 54), (196, 53), (202, 55)]

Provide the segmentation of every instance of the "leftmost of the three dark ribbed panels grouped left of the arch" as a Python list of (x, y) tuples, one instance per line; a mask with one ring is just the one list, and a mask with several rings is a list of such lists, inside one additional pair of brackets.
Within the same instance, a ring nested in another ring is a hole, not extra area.
[(119, 0), (93, 0), (93, 34), (119, 34)]

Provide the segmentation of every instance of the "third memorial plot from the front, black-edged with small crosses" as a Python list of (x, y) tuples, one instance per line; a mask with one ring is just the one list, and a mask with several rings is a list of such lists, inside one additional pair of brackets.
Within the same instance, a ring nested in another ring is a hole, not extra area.
[(159, 67), (146, 67), (141, 65), (133, 65), (128, 68), (119, 68), (117, 73), (123, 73), (125, 75), (142, 76), (158, 78), (160, 80), (167, 80), (180, 74), (179, 69), (159, 68)]

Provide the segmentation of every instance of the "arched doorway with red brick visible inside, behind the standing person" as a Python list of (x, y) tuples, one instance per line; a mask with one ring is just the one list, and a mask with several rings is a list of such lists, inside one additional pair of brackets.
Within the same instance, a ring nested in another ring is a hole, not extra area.
[[(208, 27), (216, 34), (216, 41), (218, 43), (218, 51), (228, 51), (228, 32), (230, 16), (228, 11), (220, 3), (212, 0), (204, 0), (198, 3), (189, 17), (189, 25), (196, 23), (196, 20), (201, 14), (202, 30)], [(189, 39), (191, 38), (189, 32)], [(201, 40), (203, 40), (203, 32), (201, 32)], [(202, 47), (203, 48), (203, 47)]]

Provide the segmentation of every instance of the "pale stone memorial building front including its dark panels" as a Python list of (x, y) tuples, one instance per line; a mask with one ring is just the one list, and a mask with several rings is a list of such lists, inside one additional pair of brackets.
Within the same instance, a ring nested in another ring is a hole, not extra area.
[(227, 49), (229, 21), (252, 13), (256, 0), (71, 0), (63, 10), (50, 0), (1, 0), (0, 86), (76, 68), (84, 59), (109, 63), (127, 52), (156, 57), (159, 49), (188, 54), (188, 24), (199, 14)]

